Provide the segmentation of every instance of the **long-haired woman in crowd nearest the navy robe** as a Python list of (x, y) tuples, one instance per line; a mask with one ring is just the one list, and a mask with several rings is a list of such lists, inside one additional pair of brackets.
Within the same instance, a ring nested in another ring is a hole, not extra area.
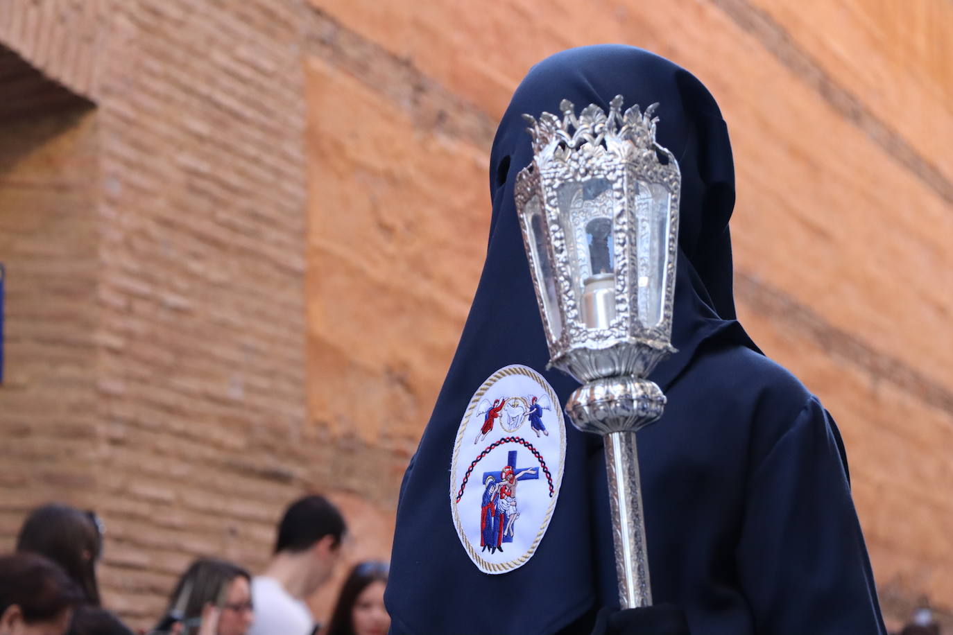
[(384, 607), (387, 570), (385, 563), (375, 561), (351, 569), (323, 635), (387, 635), (391, 627)]

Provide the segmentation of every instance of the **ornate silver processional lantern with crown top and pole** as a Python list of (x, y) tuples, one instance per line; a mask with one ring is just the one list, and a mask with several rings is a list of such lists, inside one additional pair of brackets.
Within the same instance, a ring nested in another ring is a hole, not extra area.
[(516, 187), (550, 367), (582, 384), (566, 413), (604, 438), (622, 608), (652, 604), (636, 430), (661, 416), (645, 377), (674, 351), (681, 174), (657, 107), (623, 113), (619, 95), (608, 114), (563, 100), (561, 118), (523, 115), (534, 157)]

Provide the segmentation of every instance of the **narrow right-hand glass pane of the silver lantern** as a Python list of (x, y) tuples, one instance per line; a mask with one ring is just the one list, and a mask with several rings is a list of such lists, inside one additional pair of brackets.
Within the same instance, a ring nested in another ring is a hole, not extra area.
[(665, 304), (671, 194), (659, 183), (639, 181), (636, 193), (636, 296), (639, 323), (657, 327)]

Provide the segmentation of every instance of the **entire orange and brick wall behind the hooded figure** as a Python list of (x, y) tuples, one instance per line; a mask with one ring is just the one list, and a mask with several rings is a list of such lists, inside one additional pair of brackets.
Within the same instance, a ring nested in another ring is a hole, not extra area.
[[(0, 538), (54, 494), (96, 506), (107, 603), (136, 625), (195, 554), (262, 566), (280, 508), (310, 489), (352, 519), (350, 558), (386, 556), (399, 475), (482, 265), (497, 117), (537, 59), (623, 41), (693, 69), (720, 101), (741, 318), (841, 425), (885, 608), (949, 606), (953, 44), (938, 25), (951, 13), (942, 0), (0, 3), (0, 43), (95, 103), (21, 119), (0, 148), (24, 156), (0, 173), (0, 260), (37, 280), (86, 276), (72, 321), (8, 281), (0, 426), (29, 442), (10, 446), (22, 468), (0, 470)], [(13, 174), (43, 184), (35, 201), (66, 197), (51, 187), (60, 164), (73, 193), (49, 213), (85, 229), (58, 253), (91, 265), (57, 272), (30, 260), (33, 204), (6, 201), (27, 196)], [(14, 381), (57, 373), (85, 407), (40, 411)], [(314, 599), (319, 615), (332, 595)]]

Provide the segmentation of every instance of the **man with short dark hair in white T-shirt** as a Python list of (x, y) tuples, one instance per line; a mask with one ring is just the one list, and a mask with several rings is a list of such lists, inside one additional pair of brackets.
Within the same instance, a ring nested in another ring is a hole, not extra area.
[(305, 599), (331, 577), (347, 526), (323, 496), (305, 496), (285, 511), (274, 557), (252, 581), (251, 635), (310, 635), (314, 617)]

